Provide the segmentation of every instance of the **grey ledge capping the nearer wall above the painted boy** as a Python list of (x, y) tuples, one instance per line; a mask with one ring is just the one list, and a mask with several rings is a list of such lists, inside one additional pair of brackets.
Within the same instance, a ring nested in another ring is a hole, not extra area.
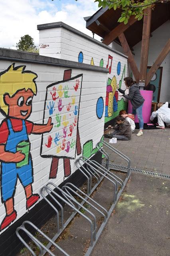
[(109, 73), (109, 68), (101, 68), (99, 66), (92, 66), (89, 64), (83, 64), (75, 61), (61, 60), (61, 59), (42, 56), (42, 55), (30, 53), (30, 52), (10, 50), (5, 48), (0, 48), (0, 60), (30, 62), (34, 64), (45, 64), (45, 65), (62, 66), (62, 67), (69, 67), (69, 68), (81, 68), (81, 69), (90, 70), (90, 71)]

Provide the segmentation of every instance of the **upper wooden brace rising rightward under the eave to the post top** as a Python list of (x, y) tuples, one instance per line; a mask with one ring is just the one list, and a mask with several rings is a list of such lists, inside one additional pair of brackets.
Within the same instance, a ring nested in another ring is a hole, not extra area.
[(103, 40), (104, 44), (110, 44), (113, 42), (121, 33), (123, 33), (125, 30), (127, 30), (128, 27), (130, 27), (134, 22), (136, 22), (137, 19), (134, 18), (134, 15), (130, 17), (128, 20), (128, 24), (124, 24), (121, 22), (116, 28), (111, 30), (109, 34), (107, 34)]

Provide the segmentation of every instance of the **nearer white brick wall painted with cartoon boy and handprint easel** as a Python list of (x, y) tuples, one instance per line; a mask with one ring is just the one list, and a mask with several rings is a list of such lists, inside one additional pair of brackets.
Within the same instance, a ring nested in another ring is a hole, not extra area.
[[(80, 68), (79, 64), (75, 62), (66, 62), (65, 60), (12, 50), (0, 49), (0, 56), (0, 110), (4, 109), (3, 95), (9, 93), (11, 97), (14, 95), (15, 97), (20, 97), (17, 92), (22, 87), (19, 88), (18, 86), (22, 84), (21, 86), (25, 88), (28, 84), (29, 88), (34, 78), (37, 94), (33, 97), (32, 112), (27, 120), (32, 122), (33, 125), (47, 124), (49, 117), (51, 117), (53, 123), (52, 130), (43, 135), (42, 126), (37, 130), (37, 134), (32, 134), (33, 130), (29, 130), (30, 134), (28, 134), (28, 130), (27, 132), (25, 131), (31, 145), (28, 153), (28, 159), (30, 159), (30, 154), (32, 155), (32, 166), (28, 168), (31, 170), (31, 174), (26, 169), (29, 160), (27, 163), (22, 163), (23, 165), (21, 166), (17, 166), (17, 164), (11, 166), (7, 158), (1, 159), (0, 196), (2, 202), (0, 203), (0, 225), (6, 217), (5, 202), (9, 198), (12, 198), (17, 214), (16, 219), (6, 228), (2, 228), (2, 225), (0, 226), (1, 245), (2, 241), (3, 243), (6, 242), (8, 237), (7, 240), (10, 246), (14, 238), (16, 239), (16, 228), (15, 230), (10, 229), (10, 232), (8, 232), (8, 229), (15, 222), (18, 222), (22, 216), (25, 216), (27, 220), (29, 219), (29, 215), (26, 216), (28, 209), (26, 208), (26, 191), (24, 188), (31, 184), (32, 193), (40, 196), (40, 188), (47, 182), (51, 180), (56, 185), (59, 185), (77, 170), (75, 159), (82, 154), (91, 157), (97, 153), (95, 145), (103, 139), (107, 70), (86, 64), (81, 64)], [(71, 80), (69, 80), (70, 75)], [(27, 97), (25, 91), (22, 91), (22, 96)], [(15, 106), (15, 111), (12, 117), (17, 118), (18, 114), (16, 112), (19, 111), (20, 114), (20, 110), (23, 110), (22, 105), (20, 106), (13, 102), (11, 108), (13, 105)], [(8, 110), (7, 105), (6, 107)], [(0, 114), (0, 144), (7, 147), (7, 143), (8, 145), (11, 143), (10, 145), (13, 146), (15, 141), (12, 137), (10, 142), (8, 140), (7, 142), (5, 141), (6, 132), (9, 138), (10, 130), (10, 127), (2, 129), (2, 125), (6, 124), (5, 118), (9, 120), (8, 114), (7, 116)], [(16, 119), (16, 127), (18, 127), (19, 121), (20, 118), (19, 120)], [(18, 129), (20, 130), (20, 128)], [(10, 134), (14, 136), (12, 130), (10, 130)], [(21, 134), (17, 138), (19, 141), (23, 140)], [(4, 142), (2, 143), (3, 140)], [(16, 146), (14, 148), (16, 150)], [(14, 155), (14, 161), (16, 160), (15, 157)], [(52, 170), (51, 163), (54, 157), (59, 162), (58, 166), (56, 164), (53, 165)], [(65, 159), (67, 159), (67, 162), (65, 162), (64, 166)], [(4, 169), (2, 161), (6, 164), (6, 169)], [(69, 172), (69, 167), (71, 172)], [(17, 176), (20, 175), (18, 174), (21, 171), (20, 168), (23, 168), (22, 178)], [(33, 180), (30, 182), (29, 178)], [(78, 179), (79, 177), (77, 177)], [(40, 196), (37, 202), (30, 206), (29, 214), (30, 212), (32, 212), (32, 216), (37, 214), (36, 211), (34, 212), (34, 207), (41, 204), (41, 200)], [(4, 255), (7, 256), (8, 254)]]

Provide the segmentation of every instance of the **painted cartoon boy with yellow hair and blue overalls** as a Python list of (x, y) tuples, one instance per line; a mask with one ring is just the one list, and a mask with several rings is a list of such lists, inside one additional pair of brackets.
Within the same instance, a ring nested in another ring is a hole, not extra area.
[(1, 196), (6, 216), (0, 231), (16, 219), (14, 194), (19, 178), (26, 194), (29, 209), (40, 198), (32, 194), (33, 167), (28, 135), (50, 132), (51, 118), (47, 124), (34, 124), (26, 119), (32, 112), (32, 98), (37, 94), (37, 74), (24, 71), (26, 66), (14, 67), (0, 73), (0, 112), (6, 116), (0, 125)]

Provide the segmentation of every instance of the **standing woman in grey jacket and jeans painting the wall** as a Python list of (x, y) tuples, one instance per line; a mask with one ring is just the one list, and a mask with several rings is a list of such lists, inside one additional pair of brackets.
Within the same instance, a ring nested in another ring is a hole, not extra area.
[(117, 85), (117, 89), (120, 92), (119, 96), (123, 96), (126, 99), (130, 100), (132, 104), (132, 114), (138, 116), (139, 120), (139, 132), (136, 134), (136, 136), (143, 135), (143, 116), (142, 116), (142, 108), (144, 103), (144, 98), (140, 94), (139, 86), (136, 83), (136, 81), (133, 81), (131, 77), (125, 77), (124, 78), (125, 85), (129, 88), (128, 95), (125, 95), (125, 90), (122, 90), (119, 88), (119, 85)]

